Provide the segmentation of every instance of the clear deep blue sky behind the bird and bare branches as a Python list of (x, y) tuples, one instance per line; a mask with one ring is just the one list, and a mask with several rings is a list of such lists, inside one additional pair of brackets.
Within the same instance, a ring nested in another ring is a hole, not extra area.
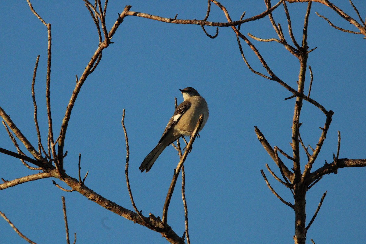
[[(250, 2), (250, 4), (249, 4)], [(332, 1), (333, 2), (333, 1)], [(237, 20), (265, 9), (263, 1), (221, 1)], [(348, 1), (334, 1), (345, 12), (356, 15)], [(98, 45), (96, 27), (83, 1), (32, 1), (34, 9), (52, 24), (51, 105), (53, 127), (58, 133), (66, 105), (80, 76)], [(354, 0), (361, 15), (366, 3)], [(107, 29), (123, 11), (180, 19), (203, 19), (206, 1), (112, 1), (108, 3)], [(33, 122), (31, 79), (40, 55), (36, 79), (38, 121), (46, 141), (45, 77), (46, 27), (34, 16), (26, 1), (1, 1), (1, 89), (0, 106), (11, 116), (31, 143), (37, 144)], [(300, 42), (306, 4), (288, 4), (294, 34)], [(308, 64), (314, 74), (311, 97), (335, 112), (327, 139), (313, 168), (332, 161), (341, 132), (340, 158), (365, 158), (365, 39), (333, 29), (315, 15), (330, 18), (336, 25), (352, 29), (320, 4), (313, 4), (308, 45)], [(282, 8), (275, 12), (287, 34)], [(210, 21), (225, 22), (223, 13), (212, 6)], [(215, 29), (206, 30), (214, 34)], [(242, 33), (261, 38), (276, 37), (268, 18), (246, 23)], [(353, 30), (353, 29), (352, 29)], [(288, 39), (290, 40), (290, 39)], [(292, 243), (294, 213), (267, 188), (260, 169), (276, 165), (258, 142), (257, 126), (272, 146), (291, 153), (291, 123), (294, 100), (283, 87), (254, 75), (244, 64), (231, 28), (221, 28), (210, 39), (200, 26), (173, 25), (128, 16), (103, 51), (102, 61), (85, 82), (72, 111), (66, 135), (66, 172), (77, 177), (78, 155), (82, 174), (89, 170), (86, 185), (132, 210), (124, 178), (125, 143), (120, 124), (125, 124), (130, 142), (130, 184), (142, 213), (161, 216), (173, 169), (179, 161), (168, 147), (149, 173), (138, 170), (153, 149), (174, 111), (174, 97), (182, 101), (179, 89), (192, 86), (205, 97), (210, 117), (185, 162), (186, 198), (191, 243)], [(273, 71), (296, 86), (299, 64), (280, 44), (253, 41)], [(251, 50), (244, 52), (255, 69), (263, 68)], [(306, 77), (309, 86), (309, 74)], [(318, 142), (325, 116), (304, 104), (300, 122), (302, 139)], [(0, 147), (15, 151), (5, 129), (0, 129)], [(21, 147), (22, 148), (22, 147)], [(23, 148), (24, 149), (24, 148)], [(302, 155), (305, 165), (306, 157)], [(290, 162), (284, 162), (290, 167)], [(5, 180), (30, 173), (18, 160), (0, 154)], [(291, 168), (291, 167), (290, 167)], [(265, 173), (276, 191), (287, 201), (292, 194)], [(278, 173), (278, 172), (277, 172)], [(365, 169), (340, 169), (326, 175), (307, 192), (307, 221), (328, 191), (322, 208), (307, 233), (315, 243), (362, 243), (366, 228)], [(62, 184), (61, 184), (62, 185)], [(67, 187), (67, 186), (66, 186)], [(0, 192), (0, 210), (36, 243), (64, 243), (61, 196), (65, 196), (71, 236), (76, 243), (166, 243), (160, 234), (119, 217), (77, 192), (63, 192), (52, 179), (37, 180)], [(184, 211), (177, 183), (169, 207), (168, 224), (184, 232)], [(0, 219), (0, 243), (25, 243)]]

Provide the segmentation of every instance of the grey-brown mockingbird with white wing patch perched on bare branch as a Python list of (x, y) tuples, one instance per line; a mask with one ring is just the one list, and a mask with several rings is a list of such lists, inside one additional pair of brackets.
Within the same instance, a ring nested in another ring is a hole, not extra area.
[(143, 159), (139, 168), (141, 172), (144, 170), (149, 172), (165, 147), (172, 144), (180, 136), (190, 136), (201, 114), (203, 115), (203, 121), (199, 131), (206, 124), (208, 107), (205, 98), (201, 97), (192, 87), (187, 87), (180, 91), (182, 91), (184, 101), (175, 109), (156, 147)]

